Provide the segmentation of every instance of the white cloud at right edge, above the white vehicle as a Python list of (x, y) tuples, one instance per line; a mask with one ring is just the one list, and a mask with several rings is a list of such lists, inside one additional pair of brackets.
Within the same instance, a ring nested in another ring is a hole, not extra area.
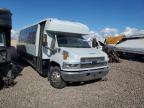
[(126, 27), (124, 32), (122, 32), (121, 34), (124, 34), (128, 37), (130, 35), (144, 34), (144, 30), (139, 30), (137, 28)]

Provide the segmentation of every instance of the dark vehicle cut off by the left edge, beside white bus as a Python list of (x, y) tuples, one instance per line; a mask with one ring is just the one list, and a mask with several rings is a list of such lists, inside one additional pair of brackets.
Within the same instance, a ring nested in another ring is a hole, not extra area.
[(0, 8), (0, 84), (9, 82), (11, 76), (11, 12)]

